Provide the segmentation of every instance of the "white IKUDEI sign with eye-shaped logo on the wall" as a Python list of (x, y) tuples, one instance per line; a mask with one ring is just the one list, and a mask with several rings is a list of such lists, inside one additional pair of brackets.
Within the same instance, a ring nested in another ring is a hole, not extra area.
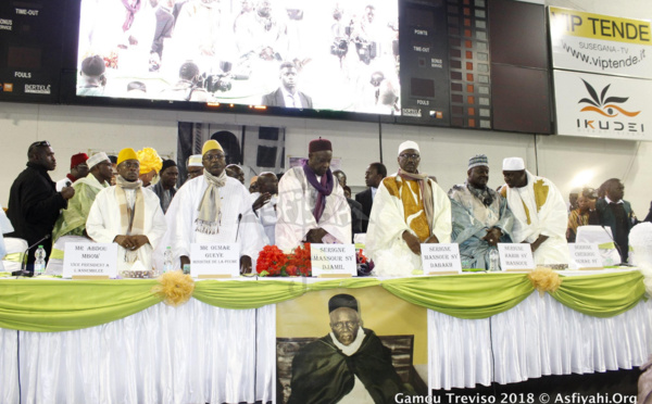
[(652, 140), (652, 80), (554, 71), (556, 132)]

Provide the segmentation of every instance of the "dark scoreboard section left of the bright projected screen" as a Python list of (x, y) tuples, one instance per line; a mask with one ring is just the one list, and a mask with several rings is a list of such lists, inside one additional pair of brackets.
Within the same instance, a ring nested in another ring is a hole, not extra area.
[(59, 101), (63, 11), (58, 1), (0, 2), (0, 100)]

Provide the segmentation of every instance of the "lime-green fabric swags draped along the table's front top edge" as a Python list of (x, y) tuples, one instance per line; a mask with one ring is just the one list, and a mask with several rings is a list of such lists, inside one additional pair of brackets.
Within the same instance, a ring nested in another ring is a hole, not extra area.
[[(587, 315), (611, 317), (643, 298), (639, 272), (563, 277), (551, 295)], [(114, 321), (161, 301), (153, 279), (0, 279), (0, 328), (65, 331)], [(309, 282), (288, 280), (203, 280), (193, 298), (224, 308), (255, 308), (304, 293), (335, 288), (381, 286), (410, 303), (459, 318), (487, 318), (505, 312), (534, 292), (527, 274), (469, 274), (399, 278), (349, 278)]]

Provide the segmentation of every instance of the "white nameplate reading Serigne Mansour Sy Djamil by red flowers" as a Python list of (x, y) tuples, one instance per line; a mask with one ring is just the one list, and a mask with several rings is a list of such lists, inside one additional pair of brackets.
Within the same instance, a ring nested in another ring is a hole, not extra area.
[(313, 276), (348, 278), (358, 275), (353, 244), (310, 244)]

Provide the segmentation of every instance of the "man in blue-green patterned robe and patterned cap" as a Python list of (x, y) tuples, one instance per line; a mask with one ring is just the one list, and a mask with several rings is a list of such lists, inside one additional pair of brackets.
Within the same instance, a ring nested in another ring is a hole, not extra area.
[(449, 191), (453, 219), (453, 242), (460, 244), (464, 268), (489, 269), (491, 251), (499, 242), (512, 242), (514, 216), (507, 201), (487, 187), (489, 161), (485, 154), (468, 160), (464, 184)]

